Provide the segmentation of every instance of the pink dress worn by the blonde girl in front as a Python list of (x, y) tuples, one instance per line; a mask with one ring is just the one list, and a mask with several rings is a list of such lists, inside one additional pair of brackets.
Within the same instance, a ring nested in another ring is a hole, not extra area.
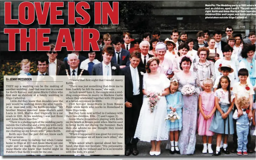
[[(205, 91), (200, 93), (202, 97), (202, 108), (205, 115), (209, 115), (214, 108), (215, 97), (214, 92), (206, 93)], [(198, 116), (198, 134), (201, 136), (213, 136), (214, 132), (210, 131), (211, 121), (214, 115), (212, 115), (208, 120), (205, 120), (201, 112)]]

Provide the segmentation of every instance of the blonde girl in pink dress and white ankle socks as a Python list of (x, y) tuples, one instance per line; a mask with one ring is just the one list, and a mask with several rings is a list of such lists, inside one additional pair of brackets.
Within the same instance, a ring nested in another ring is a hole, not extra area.
[[(203, 81), (204, 85), (204, 91), (200, 93), (199, 99), (198, 99), (198, 106), (199, 106), (199, 116), (198, 116), (198, 134), (202, 136), (203, 138), (203, 151), (202, 153), (208, 153), (212, 154), (212, 136), (214, 135), (214, 132), (209, 131), (214, 112), (216, 111), (215, 107), (215, 97), (214, 92), (211, 91), (213, 81), (210, 78), (206, 78)], [(208, 136), (208, 147), (206, 145)]]

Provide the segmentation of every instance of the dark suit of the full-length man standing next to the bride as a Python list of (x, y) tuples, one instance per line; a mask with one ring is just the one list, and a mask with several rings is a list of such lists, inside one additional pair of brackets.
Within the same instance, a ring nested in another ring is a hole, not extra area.
[[(125, 76), (125, 92), (124, 92), (124, 99), (125, 102), (132, 103), (132, 107), (128, 108), (125, 107), (125, 144), (126, 147), (136, 145), (138, 143), (138, 138), (133, 138), (134, 133), (137, 127), (140, 109), (143, 103), (143, 93), (142, 93), (142, 83), (143, 83), (143, 69), (140, 67), (138, 68), (139, 74), (139, 94), (133, 95), (133, 83), (132, 83), (132, 75), (130, 66), (126, 66), (122, 68), (123, 75)], [(132, 141), (131, 141), (132, 140)], [(131, 142), (130, 142), (131, 141)]]

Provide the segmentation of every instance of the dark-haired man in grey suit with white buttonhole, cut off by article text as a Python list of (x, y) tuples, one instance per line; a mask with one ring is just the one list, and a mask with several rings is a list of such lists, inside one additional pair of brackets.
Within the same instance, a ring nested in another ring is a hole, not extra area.
[(111, 62), (113, 54), (112, 45), (105, 46), (102, 51), (103, 61), (93, 65), (92, 75), (121, 75), (120, 66)]

